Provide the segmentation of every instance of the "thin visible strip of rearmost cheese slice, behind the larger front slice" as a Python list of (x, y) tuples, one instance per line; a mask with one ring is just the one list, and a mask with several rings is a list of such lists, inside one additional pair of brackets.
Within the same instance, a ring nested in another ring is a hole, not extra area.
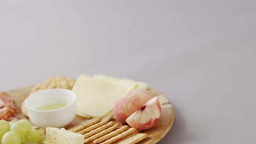
[(147, 89), (148, 86), (146, 83), (144, 82), (140, 82), (140, 81), (133, 81), (131, 79), (119, 79), (117, 77), (110, 77), (110, 76), (106, 76), (106, 75), (94, 75), (94, 79), (97, 80), (102, 80), (102, 81), (106, 81), (106, 82), (112, 82), (112, 83), (120, 83), (120, 85), (134, 85), (133, 90), (138, 89), (138, 88), (144, 88)]

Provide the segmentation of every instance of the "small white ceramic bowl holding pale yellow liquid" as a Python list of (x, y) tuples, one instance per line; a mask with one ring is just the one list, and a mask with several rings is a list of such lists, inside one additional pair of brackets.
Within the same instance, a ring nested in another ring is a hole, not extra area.
[[(55, 110), (37, 110), (40, 106), (66, 103), (65, 107)], [(68, 89), (46, 89), (30, 95), (26, 100), (27, 114), (37, 127), (61, 128), (69, 124), (75, 117), (77, 95)]]

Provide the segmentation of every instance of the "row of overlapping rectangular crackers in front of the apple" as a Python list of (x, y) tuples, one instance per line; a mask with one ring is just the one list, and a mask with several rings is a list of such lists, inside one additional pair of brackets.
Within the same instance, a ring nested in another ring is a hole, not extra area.
[(108, 119), (102, 120), (101, 118), (91, 119), (68, 130), (83, 134), (84, 143), (133, 144), (146, 139), (148, 136), (147, 134), (139, 133), (139, 131), (129, 127), (129, 125), (121, 125), (120, 123)]

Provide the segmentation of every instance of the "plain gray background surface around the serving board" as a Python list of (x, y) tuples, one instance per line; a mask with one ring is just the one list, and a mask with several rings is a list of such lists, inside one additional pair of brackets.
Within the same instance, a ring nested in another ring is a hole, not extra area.
[(159, 143), (255, 143), (255, 1), (1, 1), (0, 89), (50, 76), (147, 82), (170, 100)]

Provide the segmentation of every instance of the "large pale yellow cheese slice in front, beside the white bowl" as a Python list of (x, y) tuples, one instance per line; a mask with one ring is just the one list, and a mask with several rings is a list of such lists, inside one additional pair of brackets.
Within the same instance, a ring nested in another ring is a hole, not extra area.
[(80, 75), (72, 91), (77, 94), (77, 115), (101, 117), (113, 109), (115, 101), (132, 91), (135, 83), (94, 79)]

